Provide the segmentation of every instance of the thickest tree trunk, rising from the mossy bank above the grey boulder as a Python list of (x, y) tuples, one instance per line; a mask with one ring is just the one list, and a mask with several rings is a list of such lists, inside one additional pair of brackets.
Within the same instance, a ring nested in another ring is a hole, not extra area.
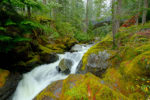
[[(116, 4), (117, 2), (117, 4)], [(122, 0), (112, 0), (112, 33), (113, 33), (113, 45), (116, 45), (115, 35), (120, 27), (121, 17), (121, 3)]]

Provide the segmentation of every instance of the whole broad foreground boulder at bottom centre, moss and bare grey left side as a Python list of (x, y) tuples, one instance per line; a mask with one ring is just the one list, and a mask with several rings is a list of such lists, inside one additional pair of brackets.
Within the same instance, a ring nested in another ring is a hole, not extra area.
[(128, 100), (121, 93), (107, 87), (98, 77), (70, 75), (65, 80), (52, 83), (34, 100)]

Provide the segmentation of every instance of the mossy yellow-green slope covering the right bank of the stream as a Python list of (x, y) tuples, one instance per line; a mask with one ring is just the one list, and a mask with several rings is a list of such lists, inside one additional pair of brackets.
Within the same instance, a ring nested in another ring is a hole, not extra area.
[(106, 36), (85, 53), (82, 70), (91, 53), (107, 50), (113, 56), (109, 59), (112, 66), (102, 78), (105, 84), (130, 100), (145, 100), (150, 95), (150, 32), (147, 28), (150, 23), (120, 28), (115, 48), (111, 35)]

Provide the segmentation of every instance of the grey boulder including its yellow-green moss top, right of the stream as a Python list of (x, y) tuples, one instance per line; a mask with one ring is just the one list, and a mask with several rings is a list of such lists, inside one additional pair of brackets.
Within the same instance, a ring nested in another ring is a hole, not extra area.
[(105, 70), (111, 66), (109, 61), (116, 51), (112, 50), (112, 38), (106, 36), (101, 42), (91, 47), (83, 56), (82, 62), (78, 66), (78, 73), (91, 72), (96, 76), (101, 77)]

